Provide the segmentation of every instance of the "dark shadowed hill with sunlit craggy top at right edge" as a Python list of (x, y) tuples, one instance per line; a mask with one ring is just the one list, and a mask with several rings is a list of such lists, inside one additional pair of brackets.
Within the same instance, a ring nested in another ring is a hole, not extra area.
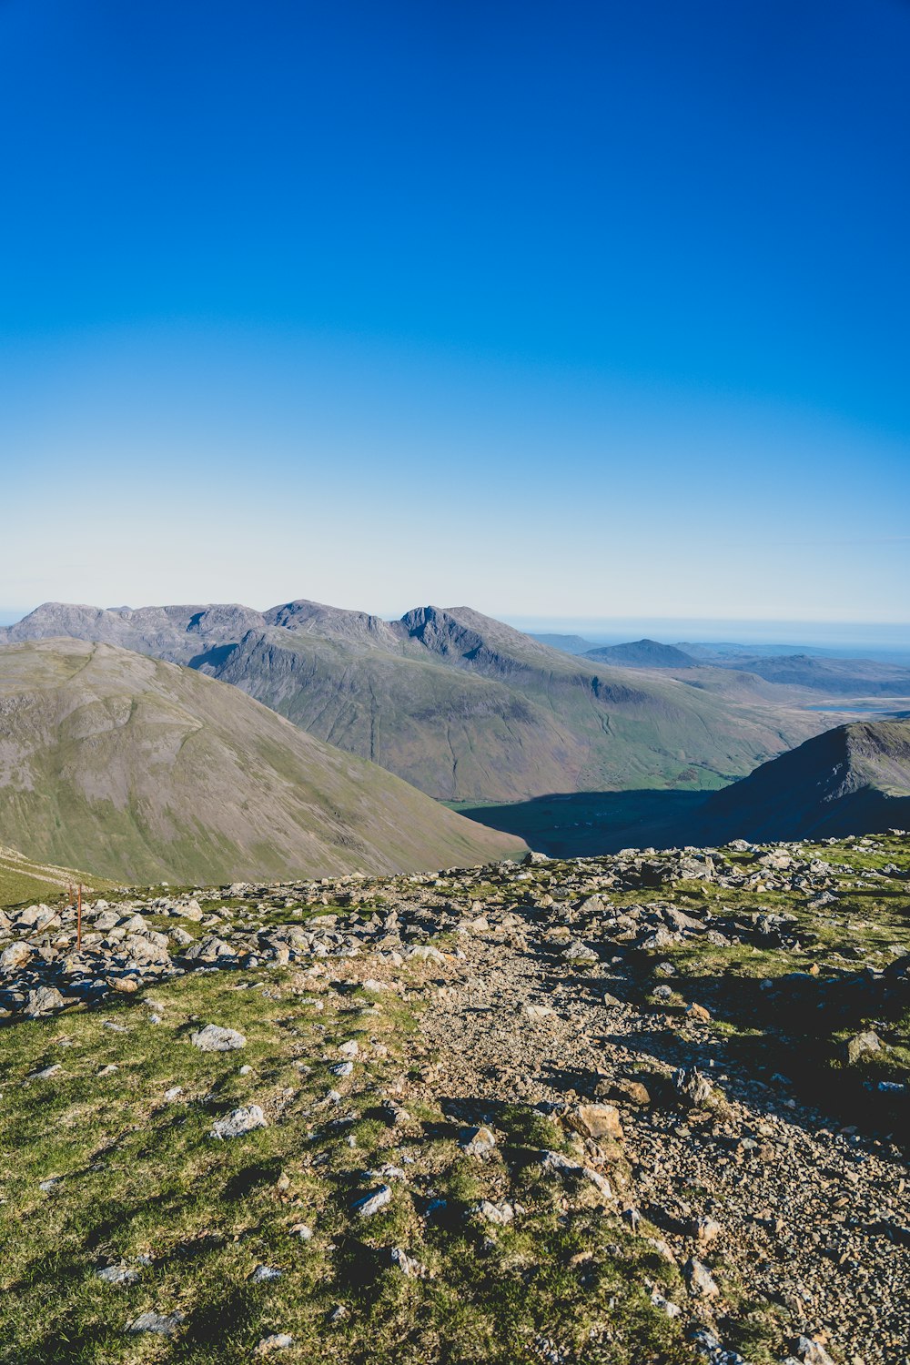
[(910, 721), (839, 725), (715, 793), (707, 838), (798, 839), (910, 826)]

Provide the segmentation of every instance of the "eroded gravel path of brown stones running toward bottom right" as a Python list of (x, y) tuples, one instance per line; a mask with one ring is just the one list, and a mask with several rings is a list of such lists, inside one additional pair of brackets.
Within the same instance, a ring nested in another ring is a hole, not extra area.
[[(495, 1122), (502, 1103), (618, 1103), (632, 1178), (617, 1208), (640, 1213), (681, 1265), (709, 1264), (722, 1286), (684, 1312), (722, 1335), (724, 1286), (738, 1282), (750, 1299), (737, 1304), (739, 1320), (778, 1314), (786, 1339), (813, 1336), (847, 1365), (910, 1361), (910, 1205), (896, 1155), (783, 1087), (738, 1076), (708, 1026), (604, 1005), (615, 969), (568, 975), (533, 923), (461, 935), (458, 953), (423, 1017), (432, 1089), (454, 1112)], [(703, 1110), (655, 1102), (658, 1073), (679, 1066), (697, 1066), (724, 1099)], [(651, 1103), (623, 1102), (633, 1080)], [(693, 1235), (699, 1219), (719, 1226), (708, 1242)]]

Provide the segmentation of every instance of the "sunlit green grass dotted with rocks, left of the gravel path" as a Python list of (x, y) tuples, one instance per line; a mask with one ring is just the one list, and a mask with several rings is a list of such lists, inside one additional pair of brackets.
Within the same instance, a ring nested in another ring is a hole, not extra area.
[[(239, 1029), (247, 1046), (201, 1052), (191, 1033), (206, 1022)], [(674, 1291), (675, 1272), (655, 1268), (589, 1186), (533, 1160), (565, 1145), (546, 1117), (508, 1107), (498, 1152), (480, 1160), (409, 1095), (415, 1028), (412, 1003), (393, 992), (377, 1010), (344, 980), (291, 969), (192, 973), (7, 1028), (4, 1365), (248, 1360), (271, 1332), (293, 1336), (280, 1357), (289, 1362), (512, 1365), (540, 1360), (542, 1342), (604, 1365), (690, 1361), (645, 1289)], [(337, 1077), (349, 1040), (355, 1070)], [(411, 1114), (397, 1127), (385, 1095)], [(267, 1127), (209, 1136), (251, 1103)], [(352, 1201), (381, 1183), (389, 1205), (360, 1218)], [(482, 1198), (525, 1212), (495, 1227), (473, 1212)], [(308, 1241), (291, 1231), (302, 1223)], [(426, 1276), (405, 1276), (396, 1246)], [(136, 1278), (106, 1283), (97, 1271), (109, 1264)], [(281, 1274), (258, 1282), (261, 1265)], [(176, 1335), (130, 1334), (147, 1310), (181, 1313)]]

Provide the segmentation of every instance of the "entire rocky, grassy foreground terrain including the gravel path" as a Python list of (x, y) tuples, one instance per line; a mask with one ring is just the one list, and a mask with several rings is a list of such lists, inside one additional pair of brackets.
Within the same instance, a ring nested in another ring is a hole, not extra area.
[(910, 1360), (910, 835), (0, 913), (0, 1358)]

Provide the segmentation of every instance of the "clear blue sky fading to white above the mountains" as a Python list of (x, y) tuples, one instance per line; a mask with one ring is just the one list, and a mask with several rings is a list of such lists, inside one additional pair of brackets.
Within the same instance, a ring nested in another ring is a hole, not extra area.
[(910, 618), (910, 4), (0, 0), (0, 607)]

